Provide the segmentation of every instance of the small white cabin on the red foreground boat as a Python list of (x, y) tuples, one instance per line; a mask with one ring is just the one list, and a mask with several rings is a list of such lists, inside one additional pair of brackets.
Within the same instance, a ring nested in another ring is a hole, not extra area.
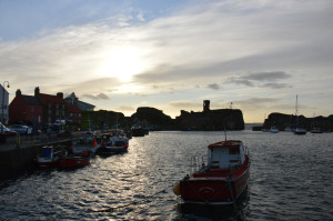
[(208, 147), (208, 164), (212, 169), (229, 169), (243, 164), (245, 151), (242, 141), (228, 140)]

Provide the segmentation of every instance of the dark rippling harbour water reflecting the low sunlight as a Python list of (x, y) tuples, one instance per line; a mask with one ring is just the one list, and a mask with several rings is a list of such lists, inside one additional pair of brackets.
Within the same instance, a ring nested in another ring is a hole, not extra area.
[(0, 181), (0, 220), (333, 220), (333, 133), (228, 132), (251, 153), (236, 210), (189, 207), (172, 191), (192, 157), (223, 132), (150, 132), (129, 152), (77, 170), (33, 170)]

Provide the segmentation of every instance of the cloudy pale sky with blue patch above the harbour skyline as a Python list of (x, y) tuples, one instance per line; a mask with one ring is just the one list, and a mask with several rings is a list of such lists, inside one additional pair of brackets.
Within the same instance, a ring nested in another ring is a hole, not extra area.
[(0, 77), (131, 115), (333, 114), (332, 0), (0, 0)]

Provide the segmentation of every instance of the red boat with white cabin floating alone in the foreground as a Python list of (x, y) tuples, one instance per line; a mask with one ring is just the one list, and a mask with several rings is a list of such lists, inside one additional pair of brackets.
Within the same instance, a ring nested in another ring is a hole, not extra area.
[(208, 150), (208, 165), (183, 178), (173, 191), (186, 203), (233, 204), (248, 185), (248, 149), (242, 141), (228, 140), (210, 144)]

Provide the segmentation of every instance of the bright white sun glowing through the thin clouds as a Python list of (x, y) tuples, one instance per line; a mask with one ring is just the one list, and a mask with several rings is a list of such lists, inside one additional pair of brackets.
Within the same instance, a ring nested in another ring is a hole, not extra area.
[(143, 51), (137, 48), (113, 48), (104, 56), (102, 74), (118, 78), (121, 82), (129, 82), (134, 74), (142, 72), (147, 67), (142, 54)]

